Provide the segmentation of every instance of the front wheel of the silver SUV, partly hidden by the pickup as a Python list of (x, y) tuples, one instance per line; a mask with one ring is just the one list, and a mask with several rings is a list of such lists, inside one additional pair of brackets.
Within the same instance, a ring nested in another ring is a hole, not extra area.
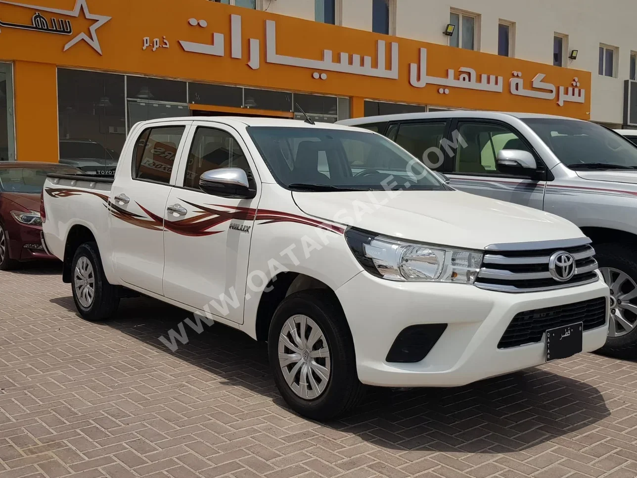
[[(623, 243), (606, 243), (595, 245), (595, 251), (599, 270), (611, 289), (608, 338), (599, 351), (635, 356), (637, 354), (637, 248)], [(633, 308), (634, 311), (631, 310)]]

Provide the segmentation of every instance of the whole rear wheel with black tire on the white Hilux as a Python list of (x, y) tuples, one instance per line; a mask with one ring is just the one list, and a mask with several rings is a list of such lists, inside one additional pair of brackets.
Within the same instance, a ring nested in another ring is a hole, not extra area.
[(75, 307), (83, 319), (91, 322), (110, 319), (119, 306), (115, 286), (106, 280), (97, 243), (83, 243), (71, 263), (71, 289)]

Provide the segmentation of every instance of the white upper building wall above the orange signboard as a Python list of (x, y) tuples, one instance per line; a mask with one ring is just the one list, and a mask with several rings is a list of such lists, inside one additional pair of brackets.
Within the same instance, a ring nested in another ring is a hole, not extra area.
[[(340, 1), (341, 25), (371, 30), (372, 0)], [(568, 48), (578, 50), (567, 68), (592, 72), (590, 117), (621, 124), (624, 80), (629, 78), (630, 54), (637, 51), (636, 0), (389, 0), (395, 1), (397, 36), (447, 44), (442, 34), (452, 8), (480, 17), (477, 47), (497, 54), (499, 20), (515, 23), (514, 56), (553, 63), (554, 33), (568, 35)], [(262, 0), (264, 8), (307, 19), (314, 18), (315, 0)], [(476, 25), (477, 27), (478, 25)], [(598, 75), (599, 44), (619, 48), (617, 78)], [(619, 63), (618, 63), (619, 61)]]

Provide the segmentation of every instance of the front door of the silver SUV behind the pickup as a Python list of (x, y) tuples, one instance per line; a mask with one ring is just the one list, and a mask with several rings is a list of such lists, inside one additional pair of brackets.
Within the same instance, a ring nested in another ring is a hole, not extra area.
[[(522, 135), (509, 126), (486, 120), (458, 120), (455, 126), (453, 169), (447, 173), (451, 185), (460, 191), (542, 209), (545, 180), (538, 177), (514, 176), (498, 170), (497, 153), (502, 149), (531, 152), (543, 168), (540, 158)], [(452, 144), (452, 143), (449, 143)]]

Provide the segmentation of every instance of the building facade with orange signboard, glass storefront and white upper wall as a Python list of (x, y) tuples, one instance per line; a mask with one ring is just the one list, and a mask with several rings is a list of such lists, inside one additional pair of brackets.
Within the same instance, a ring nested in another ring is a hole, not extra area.
[(32, 1), (0, 0), (0, 160), (116, 158), (136, 122), (185, 115), (619, 125), (637, 49), (624, 0)]

